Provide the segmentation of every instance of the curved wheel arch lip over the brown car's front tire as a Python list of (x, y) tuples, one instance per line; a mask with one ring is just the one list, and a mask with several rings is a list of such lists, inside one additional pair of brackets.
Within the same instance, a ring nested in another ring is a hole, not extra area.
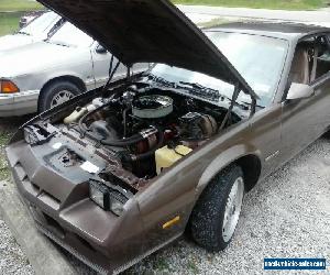
[(251, 144), (238, 144), (220, 153), (202, 173), (196, 187), (197, 198), (201, 195), (212, 178), (217, 176), (223, 168), (246, 155), (255, 155), (262, 160), (261, 151)]

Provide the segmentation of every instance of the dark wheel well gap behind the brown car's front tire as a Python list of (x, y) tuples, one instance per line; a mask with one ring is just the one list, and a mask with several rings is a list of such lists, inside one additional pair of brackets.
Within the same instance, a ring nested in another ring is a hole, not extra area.
[(250, 191), (257, 183), (261, 175), (261, 161), (255, 155), (246, 155), (234, 162), (244, 175), (246, 191)]

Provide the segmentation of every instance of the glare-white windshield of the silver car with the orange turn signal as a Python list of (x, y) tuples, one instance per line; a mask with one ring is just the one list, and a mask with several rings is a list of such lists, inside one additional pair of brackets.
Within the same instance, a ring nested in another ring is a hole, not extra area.
[(72, 23), (66, 22), (50, 37), (48, 42), (64, 46), (89, 47), (94, 40)]

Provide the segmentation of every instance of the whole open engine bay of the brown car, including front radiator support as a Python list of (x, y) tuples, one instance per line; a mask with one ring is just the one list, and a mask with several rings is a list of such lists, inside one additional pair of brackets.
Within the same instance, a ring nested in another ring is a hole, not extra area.
[[(202, 98), (139, 84), (74, 108), (59, 119), (25, 127), (25, 141), (33, 146), (52, 139), (58, 143), (66, 136), (82, 147), (92, 146), (89, 154), (107, 164), (90, 174), (118, 185), (129, 184), (132, 191), (241, 120), (234, 112), (228, 116), (228, 108)], [(80, 165), (86, 161), (74, 148), (66, 154), (74, 162), (79, 158)]]

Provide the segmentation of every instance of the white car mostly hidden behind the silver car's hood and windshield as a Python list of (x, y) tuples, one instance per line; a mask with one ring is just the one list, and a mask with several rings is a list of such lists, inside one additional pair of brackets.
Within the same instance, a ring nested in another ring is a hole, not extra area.
[(64, 20), (53, 11), (43, 12), (18, 32), (0, 37), (0, 54), (15, 47), (46, 40)]

